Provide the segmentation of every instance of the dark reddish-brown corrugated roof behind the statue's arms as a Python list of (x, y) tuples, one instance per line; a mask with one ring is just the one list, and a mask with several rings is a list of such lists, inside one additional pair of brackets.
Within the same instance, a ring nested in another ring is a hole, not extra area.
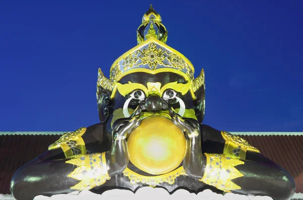
[[(0, 135), (0, 194), (10, 193), (15, 171), (47, 150), (60, 135)], [(287, 170), (303, 193), (303, 135), (239, 135)]]

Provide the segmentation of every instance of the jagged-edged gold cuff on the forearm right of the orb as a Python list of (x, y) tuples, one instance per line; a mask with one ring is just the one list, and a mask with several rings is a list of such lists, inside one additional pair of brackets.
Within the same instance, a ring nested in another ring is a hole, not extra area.
[(241, 189), (240, 186), (231, 180), (244, 176), (235, 168), (237, 165), (244, 164), (243, 161), (222, 154), (205, 153), (205, 156), (207, 160), (206, 168), (203, 177), (199, 181), (226, 192)]

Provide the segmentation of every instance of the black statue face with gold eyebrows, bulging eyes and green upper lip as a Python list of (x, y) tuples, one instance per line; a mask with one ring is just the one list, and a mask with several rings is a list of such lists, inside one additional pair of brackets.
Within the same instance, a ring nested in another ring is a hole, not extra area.
[(191, 82), (172, 72), (127, 74), (115, 84), (111, 93), (109, 124), (129, 117), (138, 106), (143, 117), (169, 117), (169, 108), (173, 108), (180, 116), (198, 120), (198, 99), (190, 92), (190, 86)]

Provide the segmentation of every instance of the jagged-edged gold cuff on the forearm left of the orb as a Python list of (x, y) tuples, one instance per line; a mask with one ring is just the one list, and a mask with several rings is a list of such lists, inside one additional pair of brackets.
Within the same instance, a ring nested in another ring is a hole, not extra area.
[(77, 155), (66, 163), (78, 166), (69, 175), (70, 178), (80, 182), (71, 189), (88, 190), (104, 184), (111, 179), (108, 174), (106, 158), (104, 153)]

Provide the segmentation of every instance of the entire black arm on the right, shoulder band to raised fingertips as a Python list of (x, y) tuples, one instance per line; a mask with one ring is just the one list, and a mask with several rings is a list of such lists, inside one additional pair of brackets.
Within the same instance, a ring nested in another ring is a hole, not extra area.
[(173, 123), (188, 137), (183, 161), (188, 176), (226, 192), (268, 195), (274, 199), (293, 196), (295, 185), (289, 173), (242, 138), (213, 129), (208, 139), (216, 140), (213, 144), (218, 152), (214, 153), (213, 149), (202, 152), (201, 126), (195, 120), (182, 119), (172, 112), (171, 115)]

